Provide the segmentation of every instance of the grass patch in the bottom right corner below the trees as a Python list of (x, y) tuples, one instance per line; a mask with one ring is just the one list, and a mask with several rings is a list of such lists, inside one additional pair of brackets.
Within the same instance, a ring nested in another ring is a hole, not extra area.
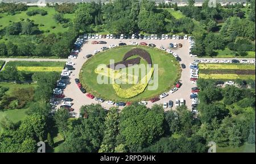
[(217, 153), (255, 153), (255, 145), (253, 144), (243, 144), (240, 147), (233, 148), (231, 146), (228, 147), (218, 147), (216, 148)]

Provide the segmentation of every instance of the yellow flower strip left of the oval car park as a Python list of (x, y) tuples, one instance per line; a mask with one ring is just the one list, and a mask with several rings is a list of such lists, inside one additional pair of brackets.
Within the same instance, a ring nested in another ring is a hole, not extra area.
[(61, 72), (60, 66), (17, 66), (18, 71), (24, 72)]

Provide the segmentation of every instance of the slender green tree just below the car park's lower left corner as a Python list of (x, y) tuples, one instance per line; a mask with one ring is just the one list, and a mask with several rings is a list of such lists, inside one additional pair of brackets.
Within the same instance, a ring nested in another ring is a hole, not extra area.
[(68, 130), (68, 119), (69, 112), (64, 108), (58, 109), (54, 115), (56, 126), (59, 129), (59, 132), (64, 134), (65, 139), (67, 138), (65, 132)]

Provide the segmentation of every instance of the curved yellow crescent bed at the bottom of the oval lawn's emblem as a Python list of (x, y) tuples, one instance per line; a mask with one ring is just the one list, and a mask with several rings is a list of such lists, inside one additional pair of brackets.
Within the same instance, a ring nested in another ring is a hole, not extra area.
[(141, 79), (143, 83), (138, 83), (129, 89), (122, 89), (121, 86), (117, 83), (113, 83), (113, 89), (115, 90), (115, 93), (121, 98), (133, 98), (134, 96), (141, 94), (146, 89), (148, 81), (150, 81), (153, 72), (154, 68), (151, 68), (151, 71)]

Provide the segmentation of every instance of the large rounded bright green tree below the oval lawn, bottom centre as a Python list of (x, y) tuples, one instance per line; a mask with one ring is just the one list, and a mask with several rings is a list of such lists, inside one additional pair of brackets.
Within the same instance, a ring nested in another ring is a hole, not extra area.
[(120, 115), (120, 135), (130, 152), (148, 146), (163, 134), (163, 113), (156, 113), (144, 106), (129, 106)]

